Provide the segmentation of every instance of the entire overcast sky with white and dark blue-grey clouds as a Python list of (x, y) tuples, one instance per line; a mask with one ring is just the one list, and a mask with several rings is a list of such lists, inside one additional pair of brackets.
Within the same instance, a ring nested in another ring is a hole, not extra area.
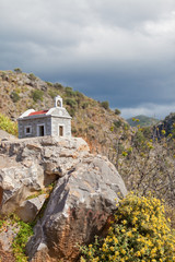
[(0, 70), (60, 82), (121, 116), (175, 111), (175, 0), (0, 0)]

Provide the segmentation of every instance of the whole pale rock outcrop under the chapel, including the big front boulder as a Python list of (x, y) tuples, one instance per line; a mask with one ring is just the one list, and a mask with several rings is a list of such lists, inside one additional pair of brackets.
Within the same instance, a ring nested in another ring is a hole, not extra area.
[(0, 169), (1, 214), (34, 219), (44, 200), (36, 192), (57, 180), (27, 243), (31, 261), (77, 261), (78, 243), (105, 235), (116, 201), (127, 192), (106, 157), (90, 154), (88, 144), (75, 138), (5, 141), (0, 151), (9, 163)]

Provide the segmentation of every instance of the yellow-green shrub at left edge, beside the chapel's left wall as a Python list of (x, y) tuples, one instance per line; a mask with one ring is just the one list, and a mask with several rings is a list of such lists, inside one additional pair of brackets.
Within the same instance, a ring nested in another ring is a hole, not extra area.
[(0, 129), (18, 136), (18, 123), (10, 120), (10, 118), (0, 114)]

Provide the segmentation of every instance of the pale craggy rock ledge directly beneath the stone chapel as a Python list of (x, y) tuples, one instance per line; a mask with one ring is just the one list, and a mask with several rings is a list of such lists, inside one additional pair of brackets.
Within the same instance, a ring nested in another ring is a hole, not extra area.
[[(45, 136), (2, 141), (0, 214), (22, 214), (21, 207), (24, 207), (24, 202), (30, 195), (37, 192), (39, 194), (49, 183), (65, 176), (88, 152), (85, 141), (75, 138)], [(35, 216), (30, 221), (34, 218)]]

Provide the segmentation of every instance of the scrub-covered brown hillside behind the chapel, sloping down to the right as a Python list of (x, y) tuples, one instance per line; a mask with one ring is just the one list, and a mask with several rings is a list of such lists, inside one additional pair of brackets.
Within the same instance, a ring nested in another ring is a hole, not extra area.
[(158, 198), (175, 205), (174, 143), (170, 140), (152, 141), (152, 128), (132, 129), (108, 108), (108, 103), (96, 102), (59, 83), (44, 82), (32, 73), (1, 71), (0, 90), (0, 114), (14, 121), (28, 108), (52, 107), (54, 97), (60, 95), (72, 116), (72, 135), (83, 138), (91, 153), (107, 156), (128, 190), (143, 194), (154, 191)]

